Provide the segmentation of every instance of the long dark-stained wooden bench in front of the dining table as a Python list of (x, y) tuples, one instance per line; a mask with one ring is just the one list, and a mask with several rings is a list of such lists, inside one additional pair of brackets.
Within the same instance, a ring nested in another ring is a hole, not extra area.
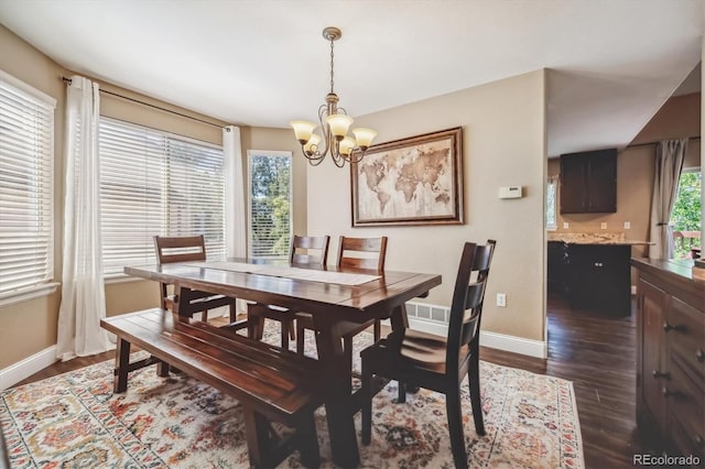
[[(314, 411), (323, 403), (316, 360), (252, 341), (206, 323), (174, 319), (161, 308), (109, 317), (100, 325), (118, 337), (115, 392), (127, 390), (128, 372), (170, 364), (237, 399), (245, 413), (250, 467), (274, 467), (299, 449), (306, 467), (318, 467)], [(152, 357), (130, 363), (130, 346)], [(167, 364), (169, 363), (169, 364)], [(294, 428), (283, 438), (271, 422)]]

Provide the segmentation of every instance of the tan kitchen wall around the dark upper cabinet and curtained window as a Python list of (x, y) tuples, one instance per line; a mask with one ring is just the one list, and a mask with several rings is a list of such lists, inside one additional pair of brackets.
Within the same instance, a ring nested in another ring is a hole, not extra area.
[[(617, 212), (565, 214), (557, 216), (557, 232), (623, 232), (630, 240), (649, 240), (649, 218), (653, 190), (655, 145), (664, 139), (697, 137), (701, 127), (701, 94), (670, 98), (617, 156)], [(699, 140), (692, 139), (684, 167), (701, 165)], [(549, 161), (549, 176), (560, 174), (560, 160)], [(558, 200), (560, 204), (560, 200)], [(625, 229), (629, 221), (630, 229)], [(563, 228), (568, 222), (568, 228)], [(600, 223), (606, 222), (603, 230)], [(632, 248), (633, 257), (648, 255), (646, 247)]]

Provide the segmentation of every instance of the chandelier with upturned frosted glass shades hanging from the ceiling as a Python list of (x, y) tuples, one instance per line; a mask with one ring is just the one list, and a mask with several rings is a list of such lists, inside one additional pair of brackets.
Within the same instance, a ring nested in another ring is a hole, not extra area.
[[(338, 107), (338, 95), (333, 90), (333, 43), (341, 35), (343, 32), (337, 28), (328, 26), (323, 30), (323, 37), (330, 41), (330, 92), (326, 95), (325, 105), (318, 108), (319, 123), (306, 120), (290, 122), (304, 156), (313, 166), (319, 165), (328, 153), (338, 167), (343, 167), (346, 162), (358, 163), (377, 135), (375, 130), (365, 128), (352, 129), (355, 138), (347, 134), (352, 118), (344, 108)], [(318, 124), (323, 137), (314, 133)]]

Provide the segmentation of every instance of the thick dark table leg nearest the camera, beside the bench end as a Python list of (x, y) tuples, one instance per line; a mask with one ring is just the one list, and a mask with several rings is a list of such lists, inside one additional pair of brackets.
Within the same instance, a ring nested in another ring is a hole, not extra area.
[(314, 324), (318, 360), (326, 375), (334, 381), (325, 399), (333, 461), (344, 468), (356, 467), (360, 462), (360, 455), (352, 418), (351, 370), (343, 351), (343, 336), (337, 324), (330, 324), (322, 316), (314, 315)]

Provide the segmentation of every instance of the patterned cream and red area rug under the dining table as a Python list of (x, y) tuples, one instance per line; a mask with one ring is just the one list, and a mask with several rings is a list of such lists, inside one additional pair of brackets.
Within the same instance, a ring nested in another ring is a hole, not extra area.
[[(265, 340), (279, 337), (270, 326), (267, 332)], [(355, 347), (370, 342), (362, 334)], [(311, 338), (306, 347), (313, 355)], [(0, 423), (11, 467), (249, 467), (237, 401), (185, 375), (159, 378), (154, 367), (131, 373), (128, 392), (113, 394), (112, 367), (106, 361), (4, 391)], [(487, 362), (480, 377), (484, 437), (475, 433), (467, 382), (462, 386), (470, 467), (584, 467), (571, 382)], [(359, 445), (360, 467), (453, 468), (444, 396), (421, 390), (404, 404), (395, 396), (391, 382), (375, 397), (372, 443)], [(359, 436), (359, 414), (355, 423)], [(325, 408), (316, 425), (322, 467), (335, 467)], [(301, 467), (299, 454), (279, 467)]]

